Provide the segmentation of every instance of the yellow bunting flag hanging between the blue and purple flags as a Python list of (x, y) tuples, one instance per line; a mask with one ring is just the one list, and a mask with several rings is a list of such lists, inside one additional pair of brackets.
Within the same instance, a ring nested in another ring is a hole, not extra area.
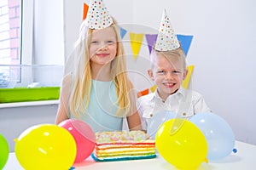
[(133, 52), (133, 59), (137, 59), (137, 55), (140, 52), (142, 46), (144, 34), (136, 34), (130, 32), (131, 49)]

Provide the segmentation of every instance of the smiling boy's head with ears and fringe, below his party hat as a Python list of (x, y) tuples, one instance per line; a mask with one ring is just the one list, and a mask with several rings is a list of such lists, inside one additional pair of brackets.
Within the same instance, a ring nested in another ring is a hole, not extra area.
[(184, 70), (182, 59), (169, 59), (160, 53), (153, 55), (154, 66), (148, 70), (148, 75), (157, 85), (160, 97), (166, 99), (181, 87), (187, 71)]

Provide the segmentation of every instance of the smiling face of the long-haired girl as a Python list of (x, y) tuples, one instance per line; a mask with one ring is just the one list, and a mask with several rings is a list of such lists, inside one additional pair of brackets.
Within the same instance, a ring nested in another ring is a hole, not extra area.
[(117, 37), (112, 26), (92, 31), (89, 53), (91, 65), (110, 64), (117, 54)]

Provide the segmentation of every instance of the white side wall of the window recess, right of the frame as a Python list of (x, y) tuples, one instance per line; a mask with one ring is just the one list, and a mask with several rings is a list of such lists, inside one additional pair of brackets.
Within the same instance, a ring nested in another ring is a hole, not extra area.
[(64, 30), (63, 1), (34, 2), (33, 82), (40, 86), (59, 86), (63, 77)]

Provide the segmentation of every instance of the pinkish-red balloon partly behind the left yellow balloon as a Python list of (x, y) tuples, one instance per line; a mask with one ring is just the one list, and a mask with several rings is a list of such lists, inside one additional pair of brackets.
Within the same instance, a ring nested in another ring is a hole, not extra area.
[(75, 162), (84, 161), (94, 150), (96, 137), (90, 126), (76, 119), (67, 119), (59, 124), (73, 135), (77, 145), (77, 156)]

